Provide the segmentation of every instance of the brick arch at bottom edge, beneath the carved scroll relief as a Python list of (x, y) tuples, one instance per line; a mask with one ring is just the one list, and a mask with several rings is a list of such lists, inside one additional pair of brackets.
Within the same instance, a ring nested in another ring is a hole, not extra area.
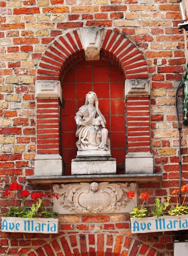
[[(123, 233), (123, 231), (122, 231)], [(24, 256), (165, 256), (151, 244), (128, 235), (109, 233), (72, 233), (62, 236), (59, 233), (50, 243), (31, 249)], [(129, 234), (130, 233), (130, 234)], [(39, 241), (40, 243), (40, 241)], [(36, 243), (37, 244), (37, 243)], [(163, 250), (164, 251), (164, 250)]]

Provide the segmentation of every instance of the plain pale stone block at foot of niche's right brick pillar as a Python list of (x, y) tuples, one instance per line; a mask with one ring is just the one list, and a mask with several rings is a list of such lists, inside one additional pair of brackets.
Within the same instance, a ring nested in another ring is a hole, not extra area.
[(154, 170), (151, 153), (128, 153), (125, 158), (126, 174), (151, 174)]

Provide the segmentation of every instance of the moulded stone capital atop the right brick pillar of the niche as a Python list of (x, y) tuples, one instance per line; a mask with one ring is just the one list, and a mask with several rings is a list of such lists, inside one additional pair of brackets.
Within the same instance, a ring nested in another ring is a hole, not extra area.
[(125, 97), (150, 95), (148, 79), (127, 79), (125, 80)]

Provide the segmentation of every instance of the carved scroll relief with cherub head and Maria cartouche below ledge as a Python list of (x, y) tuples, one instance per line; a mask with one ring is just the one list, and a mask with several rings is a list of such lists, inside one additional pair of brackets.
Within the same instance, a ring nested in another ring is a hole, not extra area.
[(71, 212), (103, 213), (125, 208), (130, 202), (126, 194), (136, 189), (136, 183), (80, 182), (54, 184), (53, 189), (62, 196), (60, 205)]

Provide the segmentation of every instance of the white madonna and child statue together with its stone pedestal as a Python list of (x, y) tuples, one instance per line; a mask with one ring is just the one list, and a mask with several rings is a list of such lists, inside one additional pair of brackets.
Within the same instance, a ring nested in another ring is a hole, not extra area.
[(72, 175), (115, 174), (116, 160), (111, 157), (106, 119), (100, 112), (97, 94), (88, 92), (85, 105), (76, 113), (77, 157), (72, 160)]

